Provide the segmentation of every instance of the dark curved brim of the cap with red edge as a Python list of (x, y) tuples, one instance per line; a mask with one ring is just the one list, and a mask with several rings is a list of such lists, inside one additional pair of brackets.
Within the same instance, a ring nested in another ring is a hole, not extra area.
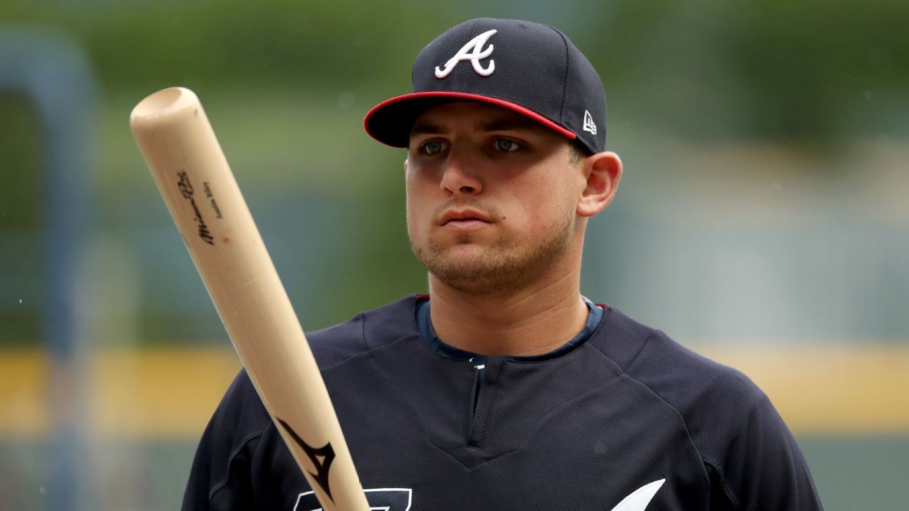
[(410, 129), (420, 114), (432, 106), (458, 100), (479, 101), (502, 106), (518, 114), (526, 115), (541, 125), (553, 129), (558, 134), (564, 135), (566, 138), (577, 138), (573, 131), (524, 106), (515, 105), (495, 97), (459, 92), (417, 92), (387, 99), (375, 105), (366, 114), (363, 125), (366, 133), (379, 142), (392, 147), (406, 147), (410, 140)]

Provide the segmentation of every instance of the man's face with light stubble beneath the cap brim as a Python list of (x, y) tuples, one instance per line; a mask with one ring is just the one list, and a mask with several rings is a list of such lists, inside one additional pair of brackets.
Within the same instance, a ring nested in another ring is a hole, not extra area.
[(565, 255), (579, 255), (585, 179), (562, 135), (499, 106), (447, 103), (416, 119), (406, 168), (411, 245), (447, 286), (508, 294), (580, 265)]

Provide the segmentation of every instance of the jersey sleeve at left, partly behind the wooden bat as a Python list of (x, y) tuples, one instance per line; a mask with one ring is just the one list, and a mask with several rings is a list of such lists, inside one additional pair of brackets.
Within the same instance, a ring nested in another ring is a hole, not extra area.
[(250, 468), (271, 418), (244, 370), (227, 389), (195, 452), (183, 511), (253, 508)]

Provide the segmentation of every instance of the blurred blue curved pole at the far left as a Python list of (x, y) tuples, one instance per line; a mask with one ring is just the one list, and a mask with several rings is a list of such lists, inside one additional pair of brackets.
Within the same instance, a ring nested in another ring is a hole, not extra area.
[(51, 479), (48, 509), (92, 508), (87, 471), (85, 326), (77, 313), (79, 256), (89, 239), (89, 155), (94, 131), (95, 81), (82, 46), (58, 32), (0, 27), (0, 89), (26, 95), (42, 129), (45, 173), (42, 324), (50, 344)]

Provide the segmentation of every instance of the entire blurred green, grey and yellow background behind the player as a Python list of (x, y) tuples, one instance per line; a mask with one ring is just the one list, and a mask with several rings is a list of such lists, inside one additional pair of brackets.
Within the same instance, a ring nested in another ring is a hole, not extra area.
[[(481, 15), (559, 27), (603, 77), (625, 175), (590, 225), (584, 294), (754, 378), (828, 510), (907, 508), (909, 4), (5, 0), (0, 84), (52, 41), (90, 86), (24, 81), (55, 97), (49, 114), (0, 86), (0, 511), (178, 507), (239, 366), (132, 107), (195, 90), (304, 328), (330, 326), (425, 292), (404, 152), (362, 119), (409, 90), (435, 35)], [(47, 145), (80, 106), (84, 221), (59, 255)], [(55, 328), (77, 349), (49, 348)]]

